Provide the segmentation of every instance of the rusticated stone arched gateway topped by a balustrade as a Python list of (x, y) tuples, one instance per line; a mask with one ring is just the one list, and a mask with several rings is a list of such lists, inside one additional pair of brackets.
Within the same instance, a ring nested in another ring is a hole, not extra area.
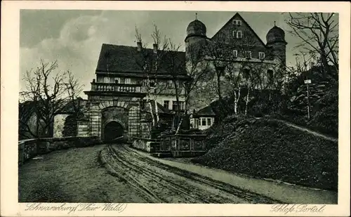
[(86, 118), (79, 121), (78, 136), (110, 140), (140, 135), (140, 104), (145, 97), (140, 84), (104, 84), (93, 81), (88, 95)]

